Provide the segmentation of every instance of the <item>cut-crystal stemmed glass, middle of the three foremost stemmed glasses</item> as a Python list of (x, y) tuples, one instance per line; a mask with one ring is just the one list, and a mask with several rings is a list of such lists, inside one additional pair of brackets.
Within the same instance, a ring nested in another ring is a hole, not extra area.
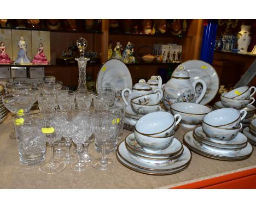
[(82, 162), (81, 156), (83, 151), (82, 145), (92, 134), (91, 123), (92, 118), (86, 116), (78, 117), (74, 120), (74, 126), (76, 127), (76, 131), (74, 136), (72, 137), (72, 140), (79, 149), (78, 162), (71, 165), (71, 169), (73, 169), (74, 171), (80, 172), (88, 167), (87, 163)]

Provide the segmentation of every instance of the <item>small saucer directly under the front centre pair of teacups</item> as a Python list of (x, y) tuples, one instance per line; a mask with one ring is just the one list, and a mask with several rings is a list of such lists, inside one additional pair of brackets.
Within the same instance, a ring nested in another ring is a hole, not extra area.
[(129, 148), (132, 149), (133, 151), (140, 152), (143, 155), (154, 156), (155, 158), (166, 158), (173, 155), (177, 155), (178, 152), (182, 150), (182, 143), (179, 142), (179, 140), (176, 139), (175, 137), (173, 138), (172, 144), (168, 146), (168, 148), (156, 153), (150, 153), (144, 150), (143, 147), (137, 143), (134, 133), (129, 134), (125, 138), (125, 144), (126, 146), (129, 146)]

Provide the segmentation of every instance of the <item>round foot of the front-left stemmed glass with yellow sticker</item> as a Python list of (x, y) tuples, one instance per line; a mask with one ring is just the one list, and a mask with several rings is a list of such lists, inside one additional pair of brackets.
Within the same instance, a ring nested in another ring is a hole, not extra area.
[(55, 173), (62, 172), (62, 170), (64, 170), (65, 167), (66, 167), (65, 162), (54, 160), (53, 162), (51, 161), (44, 162), (39, 166), (39, 170), (40, 172), (45, 174), (55, 174)]

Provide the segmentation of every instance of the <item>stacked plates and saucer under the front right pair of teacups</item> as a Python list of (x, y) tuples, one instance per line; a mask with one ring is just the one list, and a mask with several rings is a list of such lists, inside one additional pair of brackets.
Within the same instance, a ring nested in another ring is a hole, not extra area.
[(250, 157), (253, 147), (247, 137), (238, 132), (231, 140), (220, 140), (208, 137), (202, 126), (184, 134), (184, 144), (199, 155), (223, 161), (240, 161)]

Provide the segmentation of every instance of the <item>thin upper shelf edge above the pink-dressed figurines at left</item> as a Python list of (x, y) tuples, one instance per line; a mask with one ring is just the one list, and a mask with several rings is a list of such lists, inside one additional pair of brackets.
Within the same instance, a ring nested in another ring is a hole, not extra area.
[(48, 29), (48, 28), (21, 28), (21, 27), (0, 27), (0, 29), (20, 29), (20, 30), (38, 30), (50, 31), (58, 33), (85, 33), (85, 34), (102, 34), (101, 31), (86, 31), (86, 30), (68, 30), (68, 29)]

